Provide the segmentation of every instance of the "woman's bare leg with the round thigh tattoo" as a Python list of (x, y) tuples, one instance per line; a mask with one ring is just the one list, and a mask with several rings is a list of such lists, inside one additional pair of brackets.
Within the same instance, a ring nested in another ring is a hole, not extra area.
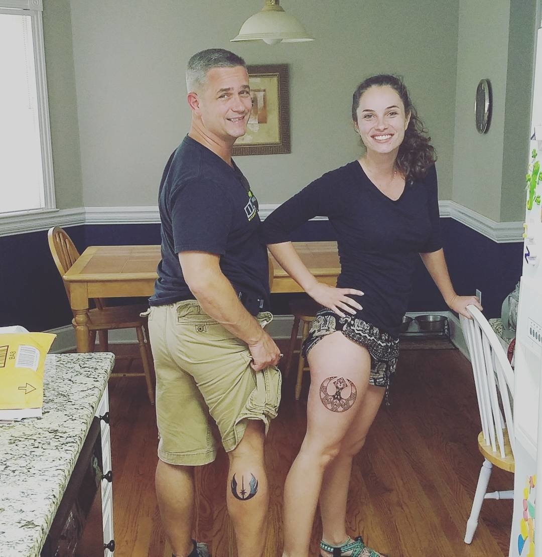
[(370, 356), (336, 332), (309, 353), (307, 432), (284, 486), (284, 556), (306, 557), (326, 467), (359, 412), (369, 386)]

